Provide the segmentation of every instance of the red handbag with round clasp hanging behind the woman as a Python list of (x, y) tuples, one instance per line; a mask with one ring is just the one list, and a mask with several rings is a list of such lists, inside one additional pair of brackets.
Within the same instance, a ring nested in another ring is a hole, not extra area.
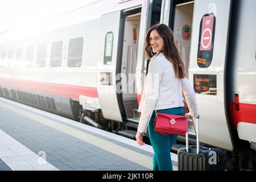
[[(182, 82), (181, 82), (182, 88)], [(182, 89), (183, 92), (183, 89)], [(184, 94), (183, 94), (184, 95)], [(184, 103), (184, 111), (187, 113), (187, 107)], [(188, 132), (188, 118), (183, 115), (157, 113), (155, 111), (154, 126), (155, 131), (163, 135), (178, 134), (185, 135)]]

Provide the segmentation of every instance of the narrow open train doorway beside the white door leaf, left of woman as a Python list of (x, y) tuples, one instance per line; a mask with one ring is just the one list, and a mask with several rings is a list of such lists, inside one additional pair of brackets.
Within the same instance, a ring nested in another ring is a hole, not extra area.
[(121, 105), (124, 109), (124, 118), (133, 121), (135, 109), (138, 109), (136, 89), (136, 68), (138, 56), (139, 31), (141, 25), (141, 7), (122, 12), (122, 48), (120, 55), (121, 70)]

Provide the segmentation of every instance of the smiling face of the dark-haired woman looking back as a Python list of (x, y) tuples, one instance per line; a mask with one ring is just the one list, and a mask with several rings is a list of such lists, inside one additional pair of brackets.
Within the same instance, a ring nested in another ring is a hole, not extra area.
[(163, 50), (164, 39), (158, 34), (158, 31), (156, 30), (152, 30), (150, 32), (150, 46), (152, 48), (152, 51), (155, 53), (159, 53)]

